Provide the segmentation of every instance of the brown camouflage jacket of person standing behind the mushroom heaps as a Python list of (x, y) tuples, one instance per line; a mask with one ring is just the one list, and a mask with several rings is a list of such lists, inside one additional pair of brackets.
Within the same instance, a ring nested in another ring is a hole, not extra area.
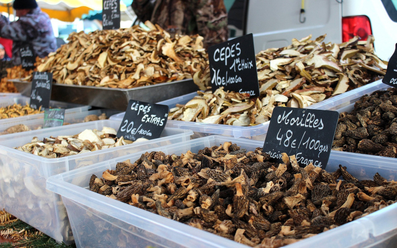
[(150, 20), (171, 35), (198, 33), (206, 48), (228, 40), (223, 0), (134, 0), (131, 7), (142, 22)]

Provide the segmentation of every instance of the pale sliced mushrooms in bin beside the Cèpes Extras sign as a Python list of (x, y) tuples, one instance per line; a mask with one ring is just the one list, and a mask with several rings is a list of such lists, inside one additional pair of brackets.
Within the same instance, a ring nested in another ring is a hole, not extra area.
[[(44, 140), (34, 137), (31, 143), (15, 149), (48, 159), (55, 159), (133, 143), (124, 140), (123, 137), (117, 138), (116, 135), (117, 131), (113, 128), (104, 127), (102, 131), (86, 129), (76, 135), (50, 136), (44, 138)], [(139, 138), (135, 142), (146, 140), (145, 138)]]

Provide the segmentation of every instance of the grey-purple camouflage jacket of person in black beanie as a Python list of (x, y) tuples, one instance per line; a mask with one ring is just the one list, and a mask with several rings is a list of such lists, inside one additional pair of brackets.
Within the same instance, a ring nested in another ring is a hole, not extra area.
[(19, 48), (23, 45), (31, 44), (35, 55), (40, 58), (57, 49), (50, 18), (39, 7), (15, 22), (0, 18), (0, 36), (14, 41), (13, 61), (17, 65), (21, 64)]

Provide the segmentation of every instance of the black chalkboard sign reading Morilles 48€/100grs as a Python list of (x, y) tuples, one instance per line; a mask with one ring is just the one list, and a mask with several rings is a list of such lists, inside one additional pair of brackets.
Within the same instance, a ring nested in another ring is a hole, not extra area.
[(263, 152), (275, 162), (281, 163), (281, 154), (287, 153), (303, 167), (312, 163), (325, 168), (338, 117), (336, 111), (275, 107)]

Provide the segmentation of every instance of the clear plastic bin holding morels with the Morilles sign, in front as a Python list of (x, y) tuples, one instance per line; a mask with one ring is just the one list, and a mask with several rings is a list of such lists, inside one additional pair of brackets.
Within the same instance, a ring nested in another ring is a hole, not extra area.
[[(227, 141), (236, 143), (247, 151), (263, 146), (263, 142), (260, 141), (213, 135), (175, 145), (153, 147), (147, 151), (163, 151), (166, 154), (180, 155), (188, 150), (198, 152), (206, 146), (219, 146)], [(47, 179), (47, 190), (62, 196), (78, 248), (116, 246), (118, 248), (132, 246), (136, 248), (148, 246), (155, 248), (247, 248), (229, 239), (89, 190), (91, 175), (101, 177), (105, 170), (115, 169), (117, 162), (126, 159), (131, 159), (133, 162), (144, 152), (93, 164)], [(326, 170), (333, 172), (339, 164), (347, 166), (349, 172), (360, 180), (371, 179), (376, 172), (387, 179), (397, 179), (397, 168), (393, 164), (362, 159), (354, 154), (344, 156), (332, 151)], [(372, 248), (375, 247), (374, 245), (380, 245), (383, 248), (394, 248), (395, 243), (390, 241), (397, 233), (396, 216), (397, 204), (393, 204), (366, 217), (287, 247)]]

